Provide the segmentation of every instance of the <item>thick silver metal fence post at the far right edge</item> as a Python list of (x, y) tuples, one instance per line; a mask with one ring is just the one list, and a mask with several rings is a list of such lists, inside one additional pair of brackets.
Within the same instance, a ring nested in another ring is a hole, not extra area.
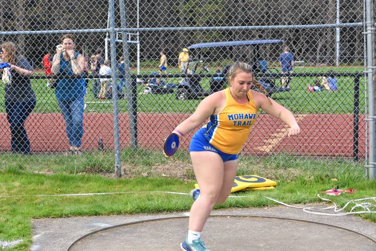
[(366, 34), (366, 55), (367, 55), (367, 85), (368, 85), (368, 176), (372, 180), (376, 178), (376, 152), (375, 152), (375, 115), (374, 115), (374, 83), (373, 83), (373, 15), (372, 15), (372, 0), (366, 0), (365, 2), (365, 34)]

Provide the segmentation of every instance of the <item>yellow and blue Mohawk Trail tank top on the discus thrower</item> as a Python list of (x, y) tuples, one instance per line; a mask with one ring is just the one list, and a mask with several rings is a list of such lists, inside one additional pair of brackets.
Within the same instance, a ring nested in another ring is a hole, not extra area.
[(205, 138), (215, 148), (227, 154), (237, 154), (248, 138), (250, 128), (256, 121), (257, 107), (250, 91), (248, 102), (240, 104), (224, 90), (226, 103), (218, 113), (211, 115), (206, 124)]

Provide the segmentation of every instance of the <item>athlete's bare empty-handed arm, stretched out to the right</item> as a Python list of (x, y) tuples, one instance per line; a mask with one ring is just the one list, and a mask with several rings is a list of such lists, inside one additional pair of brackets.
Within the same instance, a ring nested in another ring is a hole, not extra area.
[(263, 109), (266, 113), (281, 119), (290, 127), (288, 134), (289, 137), (300, 134), (298, 122), (296, 121), (294, 114), (289, 109), (280, 105), (273, 99), (271, 99), (272, 104), (270, 104), (268, 98), (262, 93), (254, 94), (254, 92), (252, 92), (252, 94), (258, 107)]

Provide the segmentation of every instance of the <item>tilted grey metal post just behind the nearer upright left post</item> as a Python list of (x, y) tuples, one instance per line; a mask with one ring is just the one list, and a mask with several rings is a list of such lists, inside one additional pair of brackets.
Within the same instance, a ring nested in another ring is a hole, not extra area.
[[(126, 5), (124, 1), (119, 0), (119, 8), (120, 8), (120, 23), (121, 28), (127, 28), (127, 16), (126, 16)], [(128, 101), (128, 119), (130, 125), (130, 135), (131, 135), (131, 148), (137, 148), (137, 132), (135, 131), (135, 113), (133, 111), (134, 99), (132, 98), (132, 90), (133, 86), (131, 83), (130, 77), (130, 61), (129, 61), (129, 51), (128, 51), (128, 43), (127, 43), (127, 33), (121, 33), (121, 40), (122, 40), (122, 54), (124, 58), (124, 71), (125, 71), (125, 78), (126, 78), (126, 86), (127, 86), (127, 101)], [(137, 87), (136, 87), (137, 88)], [(137, 112), (137, 110), (136, 110)]]

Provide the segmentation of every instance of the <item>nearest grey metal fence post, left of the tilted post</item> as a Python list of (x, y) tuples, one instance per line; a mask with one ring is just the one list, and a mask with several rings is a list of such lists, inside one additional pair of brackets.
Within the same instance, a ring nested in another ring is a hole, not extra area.
[[(108, 1), (109, 27), (115, 28), (115, 8), (114, 0)], [(119, 113), (117, 104), (117, 79), (116, 79), (116, 33), (110, 32), (110, 51), (111, 51), (111, 78), (112, 78), (112, 109), (113, 109), (113, 141), (115, 144), (115, 177), (121, 177), (121, 160), (120, 160), (120, 138), (119, 138)]]

